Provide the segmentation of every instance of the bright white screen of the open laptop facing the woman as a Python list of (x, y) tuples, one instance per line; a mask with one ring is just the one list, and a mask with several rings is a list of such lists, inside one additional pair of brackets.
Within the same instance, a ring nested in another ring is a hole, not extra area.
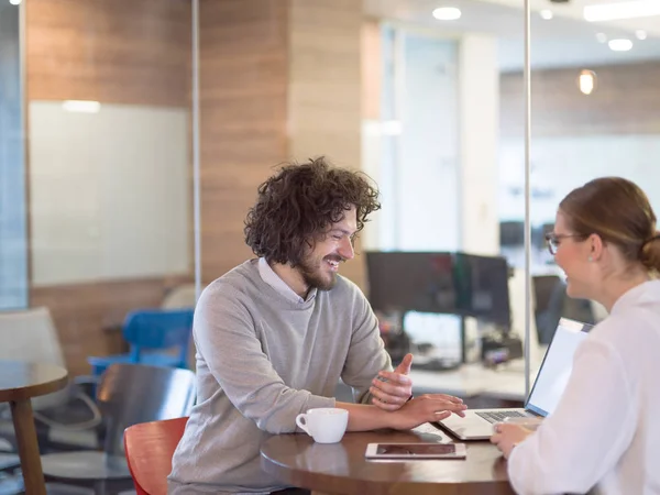
[(573, 370), (573, 355), (586, 339), (591, 324), (562, 318), (546, 352), (526, 408), (541, 416), (552, 414)]

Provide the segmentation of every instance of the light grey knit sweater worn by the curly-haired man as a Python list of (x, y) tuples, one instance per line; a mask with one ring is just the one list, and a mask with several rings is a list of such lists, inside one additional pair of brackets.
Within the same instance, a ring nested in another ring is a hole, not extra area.
[(365, 400), (392, 370), (360, 289), (338, 277), (296, 304), (266, 284), (257, 260), (202, 293), (195, 311), (197, 405), (173, 459), (170, 494), (267, 493), (286, 485), (260, 466), (260, 444), (296, 429), (312, 407), (333, 407), (341, 377)]

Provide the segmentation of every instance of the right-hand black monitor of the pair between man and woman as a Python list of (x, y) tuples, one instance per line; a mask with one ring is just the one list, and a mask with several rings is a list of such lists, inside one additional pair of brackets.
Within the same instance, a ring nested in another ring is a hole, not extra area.
[(509, 330), (509, 266), (506, 258), (466, 253), (455, 253), (454, 257), (459, 311)]

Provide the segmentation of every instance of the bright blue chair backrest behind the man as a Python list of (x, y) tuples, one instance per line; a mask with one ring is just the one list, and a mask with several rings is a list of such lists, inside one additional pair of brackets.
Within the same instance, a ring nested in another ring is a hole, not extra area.
[(132, 346), (135, 358), (143, 350), (178, 346), (186, 361), (193, 331), (193, 308), (141, 309), (127, 316), (123, 337)]

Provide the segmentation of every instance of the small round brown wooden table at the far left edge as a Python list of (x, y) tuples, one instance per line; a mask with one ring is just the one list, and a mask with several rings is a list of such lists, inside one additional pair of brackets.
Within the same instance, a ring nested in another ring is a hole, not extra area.
[(59, 366), (0, 361), (0, 403), (11, 407), (28, 495), (46, 493), (30, 399), (59, 391), (67, 383), (67, 372)]

